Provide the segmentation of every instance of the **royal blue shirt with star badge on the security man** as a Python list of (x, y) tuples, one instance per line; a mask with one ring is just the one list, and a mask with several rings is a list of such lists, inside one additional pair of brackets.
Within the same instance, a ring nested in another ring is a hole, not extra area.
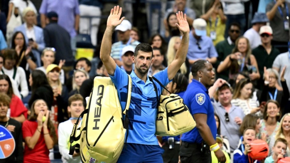
[[(187, 86), (183, 100), (192, 115), (198, 113), (207, 115), (206, 123), (215, 139), (217, 135), (217, 125), (214, 119), (213, 105), (211, 104), (208, 93), (204, 85), (193, 79)], [(201, 143), (202, 137), (198, 129), (193, 128), (191, 131), (182, 134), (181, 140), (189, 143)]]

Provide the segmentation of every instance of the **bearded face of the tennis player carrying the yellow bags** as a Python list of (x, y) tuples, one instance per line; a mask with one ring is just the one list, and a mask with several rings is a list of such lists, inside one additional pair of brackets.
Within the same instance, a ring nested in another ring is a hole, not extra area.
[(138, 51), (137, 56), (133, 56), (135, 69), (142, 75), (147, 74), (153, 61), (151, 52)]

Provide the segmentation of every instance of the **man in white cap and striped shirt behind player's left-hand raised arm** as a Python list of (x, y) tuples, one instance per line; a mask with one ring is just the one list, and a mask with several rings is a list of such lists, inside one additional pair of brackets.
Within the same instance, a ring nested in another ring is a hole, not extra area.
[(114, 59), (118, 66), (123, 64), (121, 61), (123, 47), (131, 45), (135, 50), (135, 47), (140, 43), (139, 41), (133, 40), (130, 37), (131, 29), (132, 25), (128, 20), (123, 20), (122, 23), (115, 28), (119, 41), (112, 45), (111, 57)]

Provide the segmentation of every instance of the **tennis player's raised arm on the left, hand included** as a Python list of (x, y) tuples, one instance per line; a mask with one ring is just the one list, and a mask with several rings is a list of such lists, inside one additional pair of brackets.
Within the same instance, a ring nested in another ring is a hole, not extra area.
[(119, 8), (119, 6), (115, 6), (114, 9), (111, 9), (111, 13), (107, 20), (107, 28), (104, 33), (103, 39), (102, 39), (102, 45), (101, 45), (101, 51), (100, 51), (100, 59), (104, 63), (108, 74), (114, 75), (115, 69), (116, 69), (116, 63), (114, 59), (110, 56), (110, 52), (112, 49), (112, 34), (114, 31), (114, 28), (121, 24), (123, 19), (125, 17), (121, 17), (122, 14), (122, 7)]

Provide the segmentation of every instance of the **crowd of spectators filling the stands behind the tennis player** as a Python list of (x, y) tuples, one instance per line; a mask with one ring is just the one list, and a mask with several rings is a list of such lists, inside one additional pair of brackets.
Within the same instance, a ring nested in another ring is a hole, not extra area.
[[(86, 105), (84, 99), (91, 92), (94, 77), (109, 76), (99, 59), (100, 44), (108, 11), (118, 4), (124, 6), (125, 15), (134, 13), (114, 29), (111, 57), (119, 67), (130, 74), (135, 47), (149, 43), (154, 60), (148, 74), (164, 70), (181, 42), (175, 14), (181, 10), (191, 29), (189, 48), (168, 90), (182, 96), (192, 81), (192, 64), (207, 60), (214, 67), (216, 80), (226, 81), (213, 85), (209, 96), (221, 135), (217, 138), (231, 158), (248, 127), (270, 145), (269, 156), (277, 139), (286, 139), (290, 145), (290, 1), (160, 1), (161, 6), (164, 3), (167, 7), (162, 7), (159, 15), (160, 30), (145, 35), (158, 24), (148, 25), (144, 32), (140, 24), (149, 24), (151, 14), (140, 9), (154, 4), (130, 0), (120, 4), (118, 0), (0, 2), (0, 107), (6, 112), (0, 113), (0, 125), (12, 133), (19, 146), (7, 162), (50, 162), (61, 156), (63, 162), (80, 162), (79, 153), (67, 154), (66, 143), (72, 124)], [(138, 8), (134, 8), (136, 4)], [(138, 18), (136, 13), (142, 12), (148, 19)], [(84, 41), (77, 38), (84, 35), (91, 44), (85, 48), (94, 49), (93, 59), (75, 58)], [(174, 139), (180, 141), (180, 137)], [(179, 149), (167, 149), (168, 137), (159, 140), (165, 149), (164, 161), (176, 160)], [(290, 156), (289, 148), (286, 151)]]

